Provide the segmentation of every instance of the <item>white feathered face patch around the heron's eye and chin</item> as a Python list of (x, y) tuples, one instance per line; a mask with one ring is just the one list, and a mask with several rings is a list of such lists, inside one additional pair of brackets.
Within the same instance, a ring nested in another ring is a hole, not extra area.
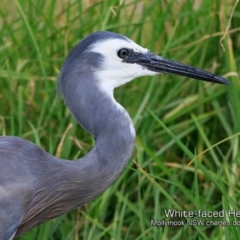
[(100, 53), (104, 57), (101, 69), (97, 69), (95, 74), (97, 74), (97, 79), (99, 79), (100, 88), (111, 97), (113, 96), (114, 88), (137, 77), (157, 74), (143, 68), (139, 64), (123, 62), (117, 55), (121, 48), (128, 48), (141, 53), (148, 52), (148, 49), (127, 38), (126, 41), (119, 38), (99, 41), (90, 50), (91, 52)]

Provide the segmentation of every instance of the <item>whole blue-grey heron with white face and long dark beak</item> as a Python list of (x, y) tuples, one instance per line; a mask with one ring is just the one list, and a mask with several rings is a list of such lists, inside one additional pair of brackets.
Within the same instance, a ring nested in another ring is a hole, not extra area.
[(154, 55), (112, 32), (93, 33), (73, 48), (63, 64), (58, 92), (95, 138), (95, 146), (83, 158), (70, 161), (27, 140), (0, 137), (0, 239), (13, 239), (85, 204), (118, 178), (132, 155), (135, 130), (126, 110), (115, 101), (114, 88), (162, 72), (229, 84)]

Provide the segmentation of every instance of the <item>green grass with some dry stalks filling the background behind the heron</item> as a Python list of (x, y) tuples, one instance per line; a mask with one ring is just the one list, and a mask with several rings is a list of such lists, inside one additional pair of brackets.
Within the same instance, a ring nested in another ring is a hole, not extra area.
[(67, 53), (93, 31), (124, 34), (157, 54), (232, 82), (223, 86), (159, 75), (117, 89), (115, 97), (137, 132), (127, 168), (97, 199), (20, 240), (239, 239), (240, 226), (232, 223), (239, 218), (227, 214), (210, 219), (231, 221), (230, 226), (150, 225), (151, 219), (170, 220), (165, 209), (240, 211), (240, 4), (223, 40), (225, 51), (220, 45), (234, 4), (1, 1), (1, 135), (29, 139), (61, 158), (81, 157), (94, 144), (55, 92)]

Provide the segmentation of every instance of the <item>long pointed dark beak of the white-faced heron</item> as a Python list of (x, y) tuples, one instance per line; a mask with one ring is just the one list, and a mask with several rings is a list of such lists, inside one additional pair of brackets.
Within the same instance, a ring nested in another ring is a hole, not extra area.
[(129, 49), (129, 55), (124, 58), (123, 61), (128, 63), (137, 63), (153, 72), (172, 73), (207, 82), (226, 85), (231, 84), (228, 80), (210, 72), (162, 58), (151, 52), (143, 54)]

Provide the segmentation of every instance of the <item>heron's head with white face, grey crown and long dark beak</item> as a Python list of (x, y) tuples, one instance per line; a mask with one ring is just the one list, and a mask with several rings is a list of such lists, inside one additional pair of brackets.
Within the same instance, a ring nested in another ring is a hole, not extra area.
[(70, 52), (66, 62), (69, 59), (72, 66), (75, 62), (76, 68), (82, 70), (79, 74), (87, 72), (86, 76), (97, 81), (98, 86), (111, 95), (114, 88), (137, 77), (158, 73), (230, 84), (212, 73), (155, 55), (127, 37), (113, 32), (100, 31), (88, 35)]

